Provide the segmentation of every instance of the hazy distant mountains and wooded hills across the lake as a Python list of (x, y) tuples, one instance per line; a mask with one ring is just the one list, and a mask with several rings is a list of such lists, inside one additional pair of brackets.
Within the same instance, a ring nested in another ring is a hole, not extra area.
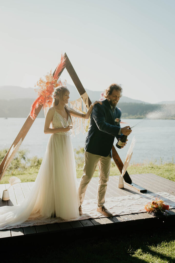
[[(70, 100), (75, 100), (80, 97), (76, 87), (67, 83), (67, 88), (70, 90)], [(88, 89), (86, 89), (86, 92), (92, 102), (99, 100), (101, 97), (100, 94), (102, 93), (102, 91)], [(37, 95), (37, 92), (35, 92), (33, 88), (0, 86), (0, 117), (27, 117), (31, 104), (37, 98)], [(118, 107), (121, 108), (123, 118), (144, 118), (147, 112), (161, 110), (161, 107), (163, 107), (161, 104), (175, 105), (175, 102), (151, 104), (122, 96)], [(171, 108), (173, 108), (172, 116), (174, 116), (174, 105), (171, 106)], [(43, 110), (40, 111), (38, 117), (44, 117)]]

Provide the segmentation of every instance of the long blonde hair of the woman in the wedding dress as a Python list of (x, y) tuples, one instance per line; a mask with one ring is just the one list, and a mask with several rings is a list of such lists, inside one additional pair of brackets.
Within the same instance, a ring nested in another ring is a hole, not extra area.
[[(66, 92), (68, 92), (68, 95), (70, 94), (68, 88), (65, 86), (61, 86), (59, 88), (56, 88), (52, 94), (52, 98), (53, 98), (52, 106), (58, 105), (59, 101), (63, 100), (63, 96), (66, 94)], [(68, 110), (67, 106), (65, 106), (65, 110), (71, 118), (70, 111)], [(71, 121), (72, 121), (72, 119), (71, 119)]]

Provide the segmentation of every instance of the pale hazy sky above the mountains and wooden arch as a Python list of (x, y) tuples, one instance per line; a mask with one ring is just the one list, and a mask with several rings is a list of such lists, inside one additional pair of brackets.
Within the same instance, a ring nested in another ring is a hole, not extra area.
[(175, 100), (174, 0), (0, 3), (0, 85), (34, 87), (66, 52), (85, 89)]

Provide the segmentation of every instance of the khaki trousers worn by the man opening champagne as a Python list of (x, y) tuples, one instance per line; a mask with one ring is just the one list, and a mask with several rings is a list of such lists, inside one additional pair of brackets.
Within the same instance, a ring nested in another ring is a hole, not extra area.
[(84, 152), (84, 167), (83, 175), (81, 177), (78, 193), (80, 204), (83, 203), (84, 195), (87, 189), (88, 183), (91, 181), (91, 178), (94, 174), (96, 166), (99, 167), (99, 181), (98, 181), (98, 191), (97, 191), (97, 205), (102, 207), (105, 202), (105, 193), (107, 189), (107, 182), (109, 180), (110, 173), (110, 164), (111, 164), (111, 154), (107, 157)]

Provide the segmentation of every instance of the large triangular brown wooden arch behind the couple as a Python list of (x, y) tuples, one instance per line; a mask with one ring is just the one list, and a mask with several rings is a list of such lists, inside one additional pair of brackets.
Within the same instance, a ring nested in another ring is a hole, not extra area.
[[(77, 88), (79, 94), (80, 95), (84, 94), (86, 92), (86, 90), (84, 89), (81, 81), (79, 80), (79, 78), (78, 78), (78, 76), (77, 76), (77, 74), (76, 74), (76, 72), (75, 72), (70, 60), (68, 59), (66, 53), (64, 54), (64, 58), (65, 58), (65, 67), (64, 68), (67, 69), (67, 72), (69, 73), (69, 75), (70, 75), (73, 83), (75, 84), (75, 87)], [(63, 72), (64, 68), (58, 73), (58, 78), (60, 77), (60, 75)], [(56, 71), (56, 69), (55, 69), (55, 71)], [(53, 73), (53, 76), (55, 74), (55, 71)], [(91, 105), (91, 100), (89, 99), (89, 97), (88, 97), (88, 103), (89, 103), (89, 106), (90, 106)], [(39, 112), (42, 109), (42, 107), (43, 107), (43, 105), (39, 105), (39, 107), (37, 109), (35, 109), (35, 115), (36, 116), (39, 114)], [(26, 134), (28, 133), (28, 131), (29, 131), (31, 125), (33, 124), (34, 120), (35, 119), (31, 119), (30, 115), (27, 117), (25, 123), (23, 124), (23, 127), (19, 131), (19, 133), (18, 133), (17, 137), (15, 138), (12, 146), (9, 148), (7, 154), (5, 155), (4, 159), (2, 160), (2, 162), (0, 164), (0, 180), (1, 180), (1, 176), (2, 176), (3, 167), (4, 167), (4, 164), (5, 164), (6, 160), (7, 160), (7, 156), (9, 154), (9, 152), (10, 152), (10, 149), (12, 147), (15, 147), (19, 143), (20, 140), (22, 140), (22, 141), (24, 140), (24, 138), (25, 138)], [(115, 164), (117, 165), (117, 167), (118, 167), (118, 169), (119, 169), (119, 171), (121, 173), (121, 171), (123, 169), (123, 163), (122, 163), (122, 161), (121, 161), (121, 159), (120, 159), (120, 157), (119, 157), (114, 145), (112, 147), (112, 158), (113, 158)], [(123, 176), (123, 178), (124, 178), (126, 183), (128, 183), (130, 186), (136, 188), (140, 192), (145, 192), (146, 191), (146, 189), (141, 188), (140, 186), (132, 183), (132, 180), (131, 180), (131, 178), (130, 178), (130, 176), (129, 176), (127, 171), (126, 171), (125, 175)]]

